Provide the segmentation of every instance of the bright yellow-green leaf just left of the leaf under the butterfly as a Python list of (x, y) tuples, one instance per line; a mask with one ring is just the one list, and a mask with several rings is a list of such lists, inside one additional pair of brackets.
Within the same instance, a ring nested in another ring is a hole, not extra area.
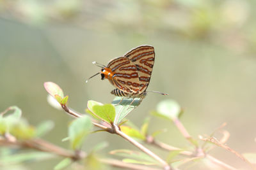
[(92, 112), (104, 122), (112, 124), (115, 120), (116, 111), (112, 104), (95, 105), (92, 107)]

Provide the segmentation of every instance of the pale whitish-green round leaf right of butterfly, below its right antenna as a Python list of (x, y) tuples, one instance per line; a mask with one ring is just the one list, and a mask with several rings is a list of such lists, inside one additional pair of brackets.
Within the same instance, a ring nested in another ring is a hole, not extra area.
[(171, 120), (178, 118), (180, 111), (181, 109), (179, 104), (172, 99), (167, 99), (157, 104), (157, 113), (163, 115), (164, 117), (168, 117)]

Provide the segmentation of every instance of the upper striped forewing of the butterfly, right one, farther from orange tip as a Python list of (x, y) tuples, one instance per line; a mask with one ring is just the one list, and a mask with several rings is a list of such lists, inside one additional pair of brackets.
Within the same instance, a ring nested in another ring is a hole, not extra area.
[(139, 94), (142, 94), (147, 89), (151, 78), (155, 60), (154, 47), (141, 45), (127, 52), (124, 57), (131, 60), (132, 64), (136, 66), (140, 82)]

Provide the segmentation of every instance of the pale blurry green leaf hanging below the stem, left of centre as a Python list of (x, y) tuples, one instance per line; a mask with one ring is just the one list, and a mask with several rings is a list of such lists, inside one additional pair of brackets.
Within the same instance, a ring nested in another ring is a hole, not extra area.
[(73, 150), (81, 148), (92, 127), (92, 120), (86, 115), (77, 118), (70, 124), (68, 127), (68, 137), (70, 138), (70, 144)]

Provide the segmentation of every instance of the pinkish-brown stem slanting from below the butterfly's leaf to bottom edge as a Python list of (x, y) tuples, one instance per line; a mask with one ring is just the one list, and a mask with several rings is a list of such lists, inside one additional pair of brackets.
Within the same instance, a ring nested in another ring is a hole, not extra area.
[(130, 143), (132, 143), (132, 145), (136, 146), (137, 148), (139, 148), (141, 151), (147, 153), (148, 155), (150, 155), (150, 157), (156, 159), (158, 162), (160, 162), (161, 164), (163, 164), (164, 169), (169, 170), (172, 169), (167, 162), (165, 162), (163, 159), (161, 159), (159, 156), (157, 156), (155, 153), (153, 153), (152, 151), (148, 150), (147, 148), (145, 148), (145, 146), (141, 145), (140, 143), (138, 143), (137, 141), (135, 141), (134, 139), (132, 139), (130, 136), (127, 136), (127, 134), (125, 134), (124, 132), (120, 131), (119, 128), (114, 125), (115, 128), (115, 132), (116, 134), (118, 134), (119, 136), (121, 136), (122, 138), (126, 139), (127, 141), (129, 141)]

